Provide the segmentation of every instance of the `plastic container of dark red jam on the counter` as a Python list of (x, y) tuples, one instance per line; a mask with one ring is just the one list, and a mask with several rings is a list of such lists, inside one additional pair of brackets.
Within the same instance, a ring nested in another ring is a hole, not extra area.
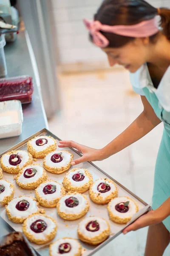
[(30, 103), (33, 91), (34, 87), (30, 76), (0, 79), (0, 101), (17, 99), (22, 104)]

